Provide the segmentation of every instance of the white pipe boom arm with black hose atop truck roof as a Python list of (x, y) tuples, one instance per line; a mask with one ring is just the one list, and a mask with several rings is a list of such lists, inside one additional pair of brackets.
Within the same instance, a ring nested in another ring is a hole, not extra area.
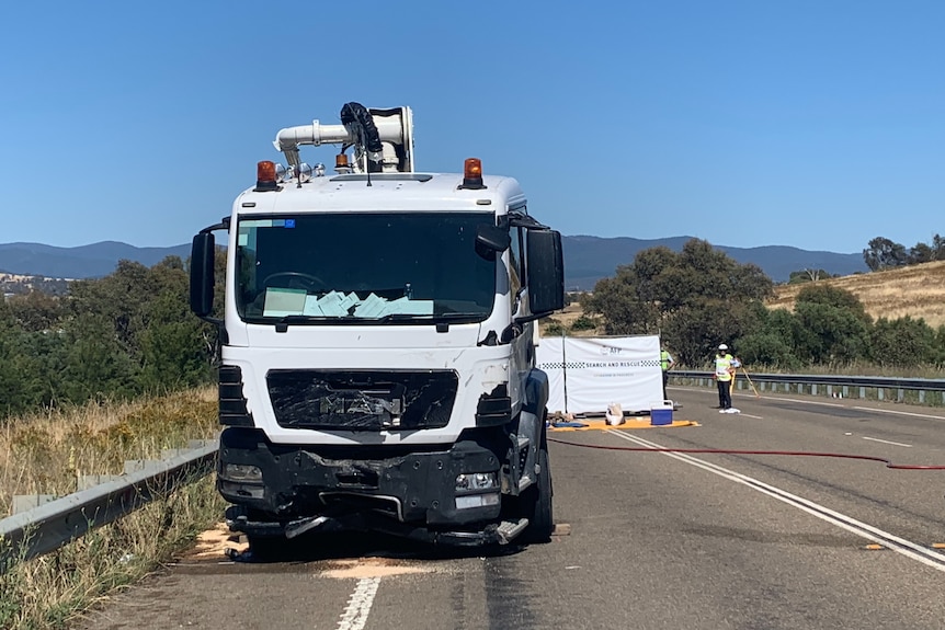
[[(342, 110), (342, 119), (351, 119), (345, 116), (352, 106), (361, 107), (357, 103), (349, 103)], [(413, 116), (410, 107), (394, 107), (389, 110), (366, 110), (377, 128), (377, 135), (383, 146), (382, 170), (413, 172)], [(301, 145), (318, 147), (321, 145), (354, 145), (355, 146), (355, 170), (366, 171), (367, 147), (361, 146), (364, 141), (363, 134), (358, 133), (357, 122), (348, 125), (322, 125), (312, 121), (311, 125), (287, 127), (276, 134), (273, 146), (285, 153), (286, 161), (293, 167), (298, 167), (298, 148)]]

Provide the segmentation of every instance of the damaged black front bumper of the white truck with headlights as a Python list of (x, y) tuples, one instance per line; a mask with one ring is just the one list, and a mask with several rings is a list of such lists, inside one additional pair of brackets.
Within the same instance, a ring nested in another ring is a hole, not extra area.
[(527, 520), (501, 517), (500, 444), (301, 447), (230, 427), (220, 437), (217, 488), (235, 504), (230, 528), (250, 536), (364, 530), (443, 545), (504, 543)]

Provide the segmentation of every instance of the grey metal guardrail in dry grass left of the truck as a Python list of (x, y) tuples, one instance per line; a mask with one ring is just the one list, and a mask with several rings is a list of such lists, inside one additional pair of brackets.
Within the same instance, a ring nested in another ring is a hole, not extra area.
[(0, 574), (54, 551), (214, 469), (219, 443), (209, 444), (0, 520)]

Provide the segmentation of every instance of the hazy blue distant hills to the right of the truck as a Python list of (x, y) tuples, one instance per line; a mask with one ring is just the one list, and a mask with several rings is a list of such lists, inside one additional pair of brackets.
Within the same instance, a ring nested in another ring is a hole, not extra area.
[[(617, 266), (634, 262), (641, 250), (664, 245), (674, 252), (693, 237), (667, 239), (631, 239), (628, 237), (562, 237), (565, 253), (565, 287), (568, 290), (591, 290), (601, 278), (612, 277)], [(851, 275), (869, 271), (863, 254), (838, 254), (834, 252), (807, 251), (784, 245), (763, 248), (729, 248), (713, 245), (741, 264), (754, 263), (776, 283), (785, 283), (792, 272), (823, 270), (831, 275)]]

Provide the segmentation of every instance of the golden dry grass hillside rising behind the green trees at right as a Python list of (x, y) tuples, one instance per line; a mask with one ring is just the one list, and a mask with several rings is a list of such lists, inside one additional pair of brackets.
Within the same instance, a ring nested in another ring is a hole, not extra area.
[[(945, 324), (945, 261), (897, 270), (818, 280), (842, 288), (863, 302), (874, 320), (922, 318), (932, 328)], [(781, 285), (768, 308), (794, 309), (798, 291), (807, 285)]]

